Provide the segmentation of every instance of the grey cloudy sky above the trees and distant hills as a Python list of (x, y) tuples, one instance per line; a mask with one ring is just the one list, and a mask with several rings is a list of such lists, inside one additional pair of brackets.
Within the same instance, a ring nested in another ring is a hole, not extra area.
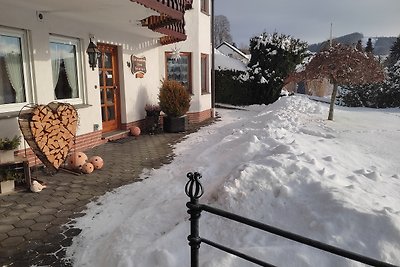
[(233, 41), (277, 31), (309, 44), (361, 32), (365, 37), (400, 35), (400, 0), (214, 0), (215, 15), (225, 15)]

